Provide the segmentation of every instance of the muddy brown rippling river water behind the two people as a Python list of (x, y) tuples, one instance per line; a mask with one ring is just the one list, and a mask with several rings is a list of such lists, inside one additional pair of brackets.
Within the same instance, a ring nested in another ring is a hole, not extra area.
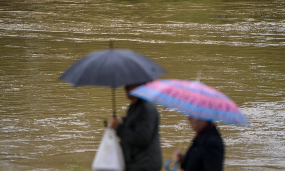
[[(111, 90), (58, 77), (84, 55), (128, 48), (232, 98), (251, 125), (217, 123), (224, 170), (285, 170), (283, 0), (0, 0), (0, 170), (90, 170)], [(129, 106), (116, 91), (117, 113)], [(187, 150), (185, 116), (158, 106), (164, 161)]]

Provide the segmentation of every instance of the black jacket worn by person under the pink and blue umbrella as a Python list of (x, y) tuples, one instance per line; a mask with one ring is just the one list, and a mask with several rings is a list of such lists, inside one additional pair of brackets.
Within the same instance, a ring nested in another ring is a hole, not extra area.
[(181, 168), (185, 171), (222, 171), (224, 145), (216, 127), (210, 127), (192, 142)]

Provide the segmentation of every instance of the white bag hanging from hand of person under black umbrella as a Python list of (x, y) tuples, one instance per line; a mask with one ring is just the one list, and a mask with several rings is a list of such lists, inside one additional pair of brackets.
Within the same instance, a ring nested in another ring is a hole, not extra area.
[(122, 147), (113, 129), (107, 127), (93, 159), (93, 171), (123, 171), (125, 160)]

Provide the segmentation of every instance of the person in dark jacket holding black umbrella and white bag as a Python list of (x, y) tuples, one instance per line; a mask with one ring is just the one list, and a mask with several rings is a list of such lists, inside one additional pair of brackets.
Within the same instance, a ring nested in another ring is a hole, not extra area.
[(136, 87), (125, 87), (132, 104), (123, 122), (112, 117), (110, 127), (121, 139), (126, 171), (158, 171), (162, 166), (159, 113), (154, 104), (129, 94)]

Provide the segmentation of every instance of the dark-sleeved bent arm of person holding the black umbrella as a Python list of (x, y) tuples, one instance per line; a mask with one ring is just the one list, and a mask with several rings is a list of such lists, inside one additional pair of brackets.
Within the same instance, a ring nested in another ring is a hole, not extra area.
[(158, 114), (153, 108), (140, 108), (137, 122), (133, 129), (125, 127), (123, 124), (118, 125), (117, 135), (122, 141), (136, 146), (147, 146), (151, 140), (154, 131), (158, 127)]

